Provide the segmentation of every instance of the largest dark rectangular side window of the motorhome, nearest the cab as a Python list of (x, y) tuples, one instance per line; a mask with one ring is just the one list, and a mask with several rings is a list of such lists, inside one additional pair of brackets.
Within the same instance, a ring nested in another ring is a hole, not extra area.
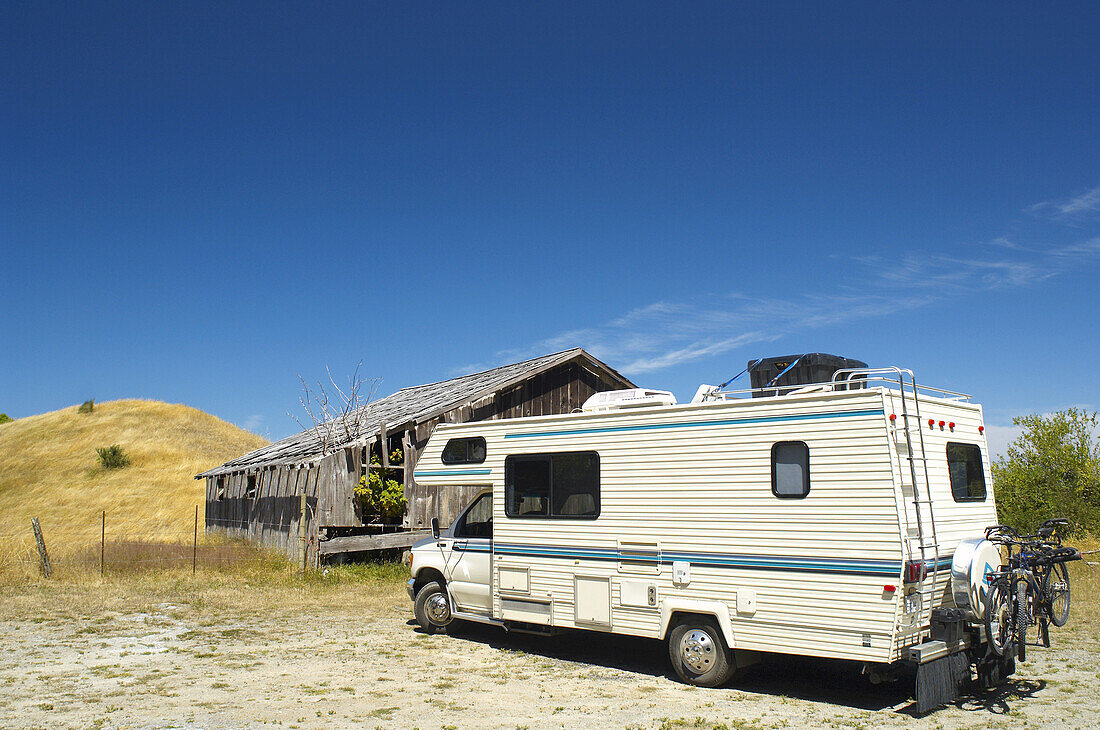
[(504, 484), (508, 517), (600, 517), (600, 455), (594, 451), (508, 456)]

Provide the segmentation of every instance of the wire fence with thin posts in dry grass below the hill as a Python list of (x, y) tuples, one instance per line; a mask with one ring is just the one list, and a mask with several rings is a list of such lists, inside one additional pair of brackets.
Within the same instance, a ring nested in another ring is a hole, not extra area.
[[(0, 569), (37, 573), (50, 577), (56, 571), (109, 573), (148, 569), (235, 569), (272, 561), (285, 561), (243, 539), (255, 523), (241, 520), (207, 520), (197, 508), (190, 520), (177, 516), (157, 524), (135, 528), (112, 521), (99, 510), (91, 520), (28, 520), (24, 526), (0, 528)], [(188, 529), (184, 529), (186, 526)], [(289, 526), (264, 524), (288, 531)], [(212, 530), (211, 530), (212, 528)], [(241, 537), (235, 537), (241, 535)], [(297, 534), (287, 535), (297, 541)]]

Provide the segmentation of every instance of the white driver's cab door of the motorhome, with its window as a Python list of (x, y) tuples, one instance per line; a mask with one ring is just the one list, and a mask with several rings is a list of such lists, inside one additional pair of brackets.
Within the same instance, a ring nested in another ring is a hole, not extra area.
[(493, 554), (493, 494), (485, 493), (470, 504), (454, 521), (448, 587), (463, 611), (485, 613), (490, 602), (490, 560)]

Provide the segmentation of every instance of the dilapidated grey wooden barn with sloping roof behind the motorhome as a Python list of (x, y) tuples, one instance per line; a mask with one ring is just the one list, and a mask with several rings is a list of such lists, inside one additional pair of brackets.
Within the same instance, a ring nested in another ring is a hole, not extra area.
[[(206, 529), (286, 552), (304, 563), (319, 555), (404, 548), (442, 526), (480, 487), (437, 490), (413, 478), (437, 423), (568, 413), (595, 392), (632, 383), (584, 350), (574, 349), (483, 373), (431, 383), (363, 406), (349, 417), (358, 435), (322, 451), (307, 430), (197, 475), (206, 479)], [(331, 431), (330, 431), (331, 433)], [(404, 463), (391, 465), (395, 449)], [(376, 456), (381, 466), (371, 465)], [(399, 526), (364, 521), (354, 488), (369, 468), (404, 477), (408, 509)]]

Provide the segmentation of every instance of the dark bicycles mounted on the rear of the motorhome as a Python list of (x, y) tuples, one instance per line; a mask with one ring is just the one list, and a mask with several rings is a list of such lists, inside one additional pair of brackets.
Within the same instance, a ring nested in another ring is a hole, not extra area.
[(1007, 562), (987, 575), (985, 624), (990, 652), (1026, 657), (1027, 630), (1038, 626), (1040, 640), (1050, 645), (1049, 623), (1063, 627), (1069, 620), (1069, 572), (1066, 563), (1080, 560), (1074, 548), (1062, 544), (1058, 528), (1064, 519), (1047, 520), (1035, 534), (1021, 535), (999, 524), (986, 530), (986, 539), (1007, 550)]

